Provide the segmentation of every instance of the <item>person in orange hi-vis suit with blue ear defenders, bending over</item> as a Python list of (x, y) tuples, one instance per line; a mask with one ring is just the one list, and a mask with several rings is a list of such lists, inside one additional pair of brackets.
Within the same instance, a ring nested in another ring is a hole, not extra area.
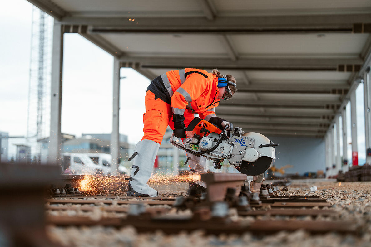
[[(236, 92), (236, 80), (232, 75), (222, 76), (218, 70), (212, 73), (200, 69), (171, 70), (153, 79), (145, 94), (143, 114), (144, 136), (137, 143), (129, 178), (128, 196), (158, 196), (147, 184), (167, 126), (175, 137), (185, 138), (185, 127), (194, 114), (223, 128), (229, 122), (215, 115), (214, 108), (221, 99), (231, 99)], [(206, 158), (187, 153), (191, 174), (205, 172)], [(201, 181), (190, 183), (190, 188), (205, 191)]]

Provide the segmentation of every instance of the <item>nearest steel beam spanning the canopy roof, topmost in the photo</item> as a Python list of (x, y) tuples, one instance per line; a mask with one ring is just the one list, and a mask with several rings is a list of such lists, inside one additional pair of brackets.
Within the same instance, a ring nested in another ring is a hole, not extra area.
[(217, 16), (213, 20), (195, 16), (140, 17), (137, 20), (138, 24), (127, 21), (127, 17), (66, 16), (61, 23), (91, 25), (92, 31), (104, 33), (361, 33), (368, 30), (371, 15)]

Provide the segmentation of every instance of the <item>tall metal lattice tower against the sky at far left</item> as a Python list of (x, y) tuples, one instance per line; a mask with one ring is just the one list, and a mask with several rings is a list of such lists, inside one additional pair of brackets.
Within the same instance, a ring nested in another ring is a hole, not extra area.
[(27, 110), (27, 142), (31, 157), (40, 160), (41, 144), (37, 142), (49, 135), (50, 69), (53, 18), (33, 7), (31, 29), (30, 78)]

